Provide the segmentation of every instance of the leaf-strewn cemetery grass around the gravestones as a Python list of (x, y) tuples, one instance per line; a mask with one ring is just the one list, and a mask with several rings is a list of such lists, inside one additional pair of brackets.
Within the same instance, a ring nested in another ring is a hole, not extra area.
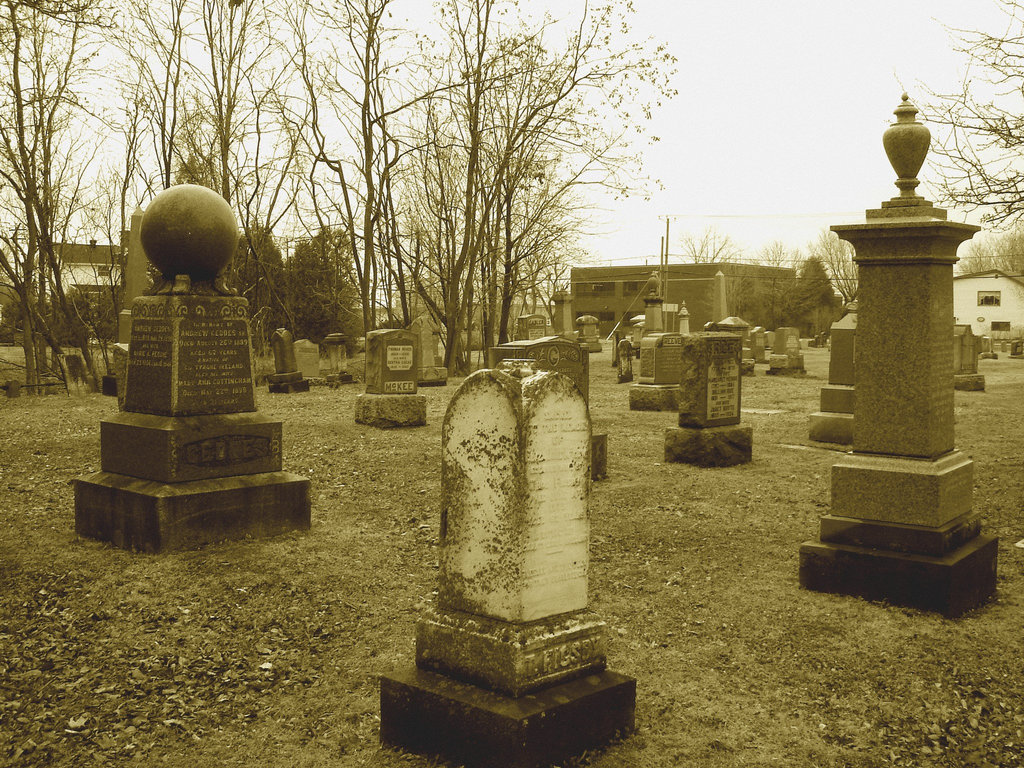
[[(1024, 362), (982, 360), (957, 392), (974, 508), (999, 537), (998, 592), (941, 616), (798, 585), (836, 451), (807, 438), (809, 375), (743, 379), (754, 461), (663, 464), (666, 413), (631, 413), (608, 351), (591, 411), (608, 433), (592, 494), (592, 606), (609, 667), (637, 679), (637, 732), (572, 765), (1016, 766), (1024, 762)], [(440, 422), (355, 425), (359, 387), (260, 408), (312, 529), (141, 555), (78, 539), (72, 479), (98, 469), (112, 398), (0, 399), (0, 764), (397, 766), (378, 744), (378, 677), (413, 663), (436, 578)]]

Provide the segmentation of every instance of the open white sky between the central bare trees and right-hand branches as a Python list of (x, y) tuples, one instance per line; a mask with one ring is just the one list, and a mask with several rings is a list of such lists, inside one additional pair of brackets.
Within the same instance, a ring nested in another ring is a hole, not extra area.
[[(524, 0), (559, 14), (582, 1)], [(600, 202), (603, 232), (587, 244), (598, 263), (656, 263), (666, 215), (676, 217), (672, 253), (682, 232), (713, 224), (748, 256), (862, 220), (898, 193), (882, 133), (903, 90), (915, 100), (922, 83), (942, 91), (962, 80), (945, 27), (1006, 25), (994, 0), (634, 4), (636, 34), (665, 40), (679, 59), (679, 95), (655, 115), (650, 130), (662, 140), (646, 151), (646, 170), (665, 188), (649, 201)], [(934, 176), (926, 161), (919, 191), (933, 200)]]

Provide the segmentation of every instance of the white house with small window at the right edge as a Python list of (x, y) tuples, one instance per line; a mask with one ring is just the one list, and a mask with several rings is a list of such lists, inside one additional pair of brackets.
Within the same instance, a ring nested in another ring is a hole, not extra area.
[(998, 269), (953, 278), (954, 323), (970, 324), (976, 336), (1024, 336), (1024, 275)]

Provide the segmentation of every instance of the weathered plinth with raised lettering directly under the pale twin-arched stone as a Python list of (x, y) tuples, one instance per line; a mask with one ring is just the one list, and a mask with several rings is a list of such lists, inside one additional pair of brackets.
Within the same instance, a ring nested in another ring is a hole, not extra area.
[(605, 625), (578, 612), (525, 624), (428, 610), (416, 625), (416, 666), (510, 696), (600, 672)]

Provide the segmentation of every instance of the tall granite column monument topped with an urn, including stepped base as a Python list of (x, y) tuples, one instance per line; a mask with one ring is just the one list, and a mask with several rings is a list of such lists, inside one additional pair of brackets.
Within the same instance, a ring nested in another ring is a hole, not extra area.
[(903, 94), (883, 138), (900, 195), (831, 227), (859, 271), (856, 429), (800, 583), (955, 616), (995, 590), (997, 542), (980, 534), (974, 463), (953, 444), (953, 264), (979, 227), (914, 194), (931, 141), (916, 113)]

